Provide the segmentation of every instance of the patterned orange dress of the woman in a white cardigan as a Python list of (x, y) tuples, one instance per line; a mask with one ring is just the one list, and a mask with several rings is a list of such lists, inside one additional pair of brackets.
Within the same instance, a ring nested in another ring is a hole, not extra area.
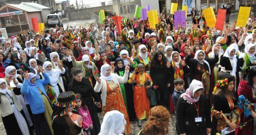
[(131, 133), (130, 121), (119, 86), (114, 81), (107, 81), (106, 106), (102, 108), (103, 115), (111, 110), (118, 110), (124, 114), (126, 120), (125, 133), (129, 135)]

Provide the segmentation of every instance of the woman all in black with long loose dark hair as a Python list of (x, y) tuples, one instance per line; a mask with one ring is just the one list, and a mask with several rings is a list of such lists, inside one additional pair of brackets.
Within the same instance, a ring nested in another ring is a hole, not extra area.
[(152, 88), (156, 90), (158, 105), (167, 107), (169, 103), (170, 88), (170, 63), (161, 51), (156, 51), (150, 61), (150, 77), (153, 81)]

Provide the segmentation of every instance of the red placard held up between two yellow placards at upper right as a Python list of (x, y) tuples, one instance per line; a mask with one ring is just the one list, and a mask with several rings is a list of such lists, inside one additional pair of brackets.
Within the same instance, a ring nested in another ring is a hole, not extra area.
[(218, 15), (217, 15), (216, 23), (215, 23), (215, 28), (217, 30), (223, 31), (224, 24), (225, 24), (225, 18), (226, 18), (226, 12), (227, 12), (227, 10), (224, 10), (224, 9), (218, 10)]

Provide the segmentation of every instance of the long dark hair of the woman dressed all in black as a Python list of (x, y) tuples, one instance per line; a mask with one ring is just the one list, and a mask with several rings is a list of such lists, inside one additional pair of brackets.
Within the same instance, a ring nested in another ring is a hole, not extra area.
[(152, 57), (152, 60), (150, 61), (150, 71), (153, 71), (153, 69), (155, 67), (160, 66), (161, 61), (158, 61), (158, 59), (157, 59), (159, 55), (162, 55), (162, 60), (161, 60), (161, 61), (163, 61), (162, 67), (167, 68), (166, 67), (167, 58), (166, 58), (166, 56), (164, 55), (164, 53), (162, 51), (158, 50), (158, 51), (155, 51), (155, 53)]

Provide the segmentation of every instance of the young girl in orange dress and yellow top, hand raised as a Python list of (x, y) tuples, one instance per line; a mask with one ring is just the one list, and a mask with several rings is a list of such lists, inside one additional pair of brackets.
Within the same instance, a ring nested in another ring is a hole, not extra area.
[[(136, 113), (136, 117), (139, 120), (138, 126), (142, 126), (142, 119), (146, 119), (146, 117), (149, 115), (150, 111), (150, 102), (147, 97), (147, 92), (149, 88), (153, 85), (152, 79), (150, 78), (150, 75), (145, 73), (145, 66), (143, 64), (139, 64), (138, 67), (134, 70), (134, 73), (130, 75), (130, 79), (128, 80), (128, 83), (131, 83), (132, 80), (135, 79), (136, 85), (134, 86), (134, 96), (133, 101), (134, 103), (134, 109)], [(137, 74), (136, 72), (139, 72)]]

